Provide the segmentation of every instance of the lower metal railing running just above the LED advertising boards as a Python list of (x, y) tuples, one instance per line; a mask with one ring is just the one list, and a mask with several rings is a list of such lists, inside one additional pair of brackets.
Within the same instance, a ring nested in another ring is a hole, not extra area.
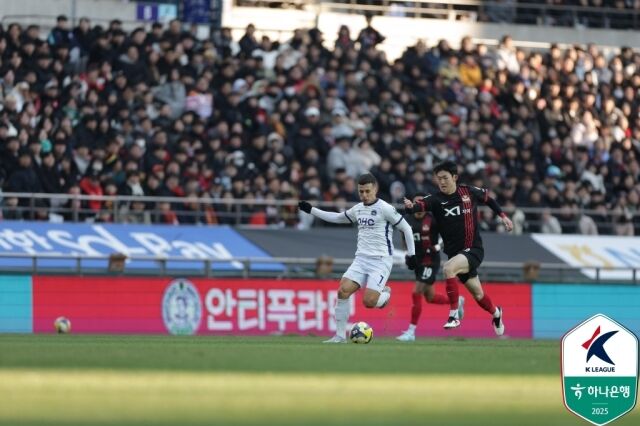
[[(317, 258), (295, 257), (233, 257), (226, 259), (190, 259), (184, 257), (130, 256), (126, 262), (143, 262), (147, 266), (124, 267), (116, 272), (109, 266), (111, 256), (89, 256), (77, 254), (52, 253), (0, 253), (3, 273), (27, 274), (78, 274), (78, 275), (188, 275), (201, 277), (277, 277), (277, 278), (318, 278), (339, 279), (353, 259), (333, 258), (333, 270), (327, 274), (317, 274)], [(11, 262), (7, 262), (11, 260)], [(54, 262), (52, 262), (54, 261)], [(64, 264), (64, 262), (67, 264)], [(48, 263), (48, 264), (47, 264)], [(177, 265), (184, 264), (184, 267)], [(193, 266), (193, 265), (197, 266)], [(216, 268), (216, 265), (235, 264), (230, 268)], [(73, 266), (71, 266), (73, 265)], [(241, 266), (240, 266), (241, 265)], [(255, 269), (256, 265), (274, 265), (271, 270)], [(404, 267), (404, 262), (396, 260), (391, 278), (394, 280), (413, 280), (413, 273)], [(562, 263), (536, 263), (536, 272), (528, 271), (531, 262), (491, 262), (480, 267), (484, 281), (493, 282), (611, 282), (605, 274), (615, 272), (616, 282), (640, 285), (640, 266), (638, 267), (602, 267), (570, 266)]]

